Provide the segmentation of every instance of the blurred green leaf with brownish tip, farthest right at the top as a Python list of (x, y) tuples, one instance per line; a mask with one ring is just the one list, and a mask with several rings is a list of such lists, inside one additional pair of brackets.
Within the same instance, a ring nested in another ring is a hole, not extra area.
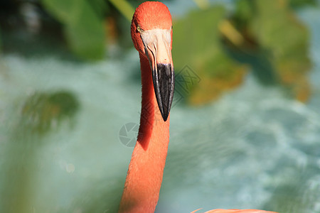
[(306, 101), (310, 89), (306, 73), (311, 67), (306, 26), (289, 9), (289, 1), (257, 0), (255, 11), (252, 31), (270, 58), (279, 82), (294, 97)]

